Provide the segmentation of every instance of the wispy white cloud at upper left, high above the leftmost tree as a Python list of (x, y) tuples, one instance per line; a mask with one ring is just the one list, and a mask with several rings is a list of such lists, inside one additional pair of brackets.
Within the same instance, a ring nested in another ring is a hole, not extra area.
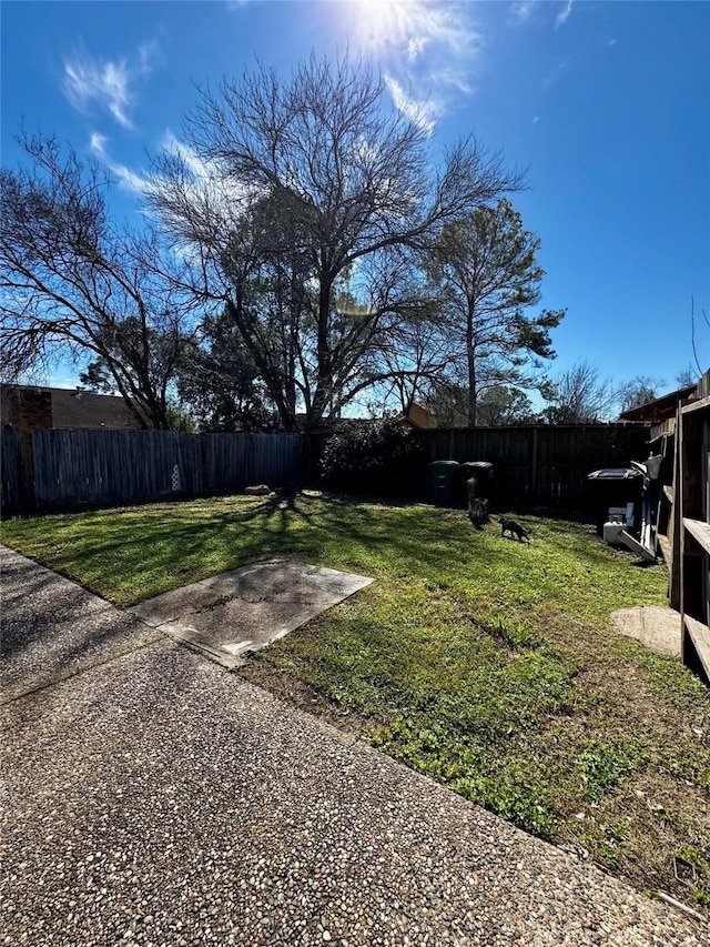
[(132, 61), (93, 59), (85, 52), (64, 63), (64, 94), (79, 111), (94, 102), (106, 109), (123, 128), (132, 129), (130, 110), (135, 103), (131, 85), (154, 68), (156, 48), (144, 44)]

